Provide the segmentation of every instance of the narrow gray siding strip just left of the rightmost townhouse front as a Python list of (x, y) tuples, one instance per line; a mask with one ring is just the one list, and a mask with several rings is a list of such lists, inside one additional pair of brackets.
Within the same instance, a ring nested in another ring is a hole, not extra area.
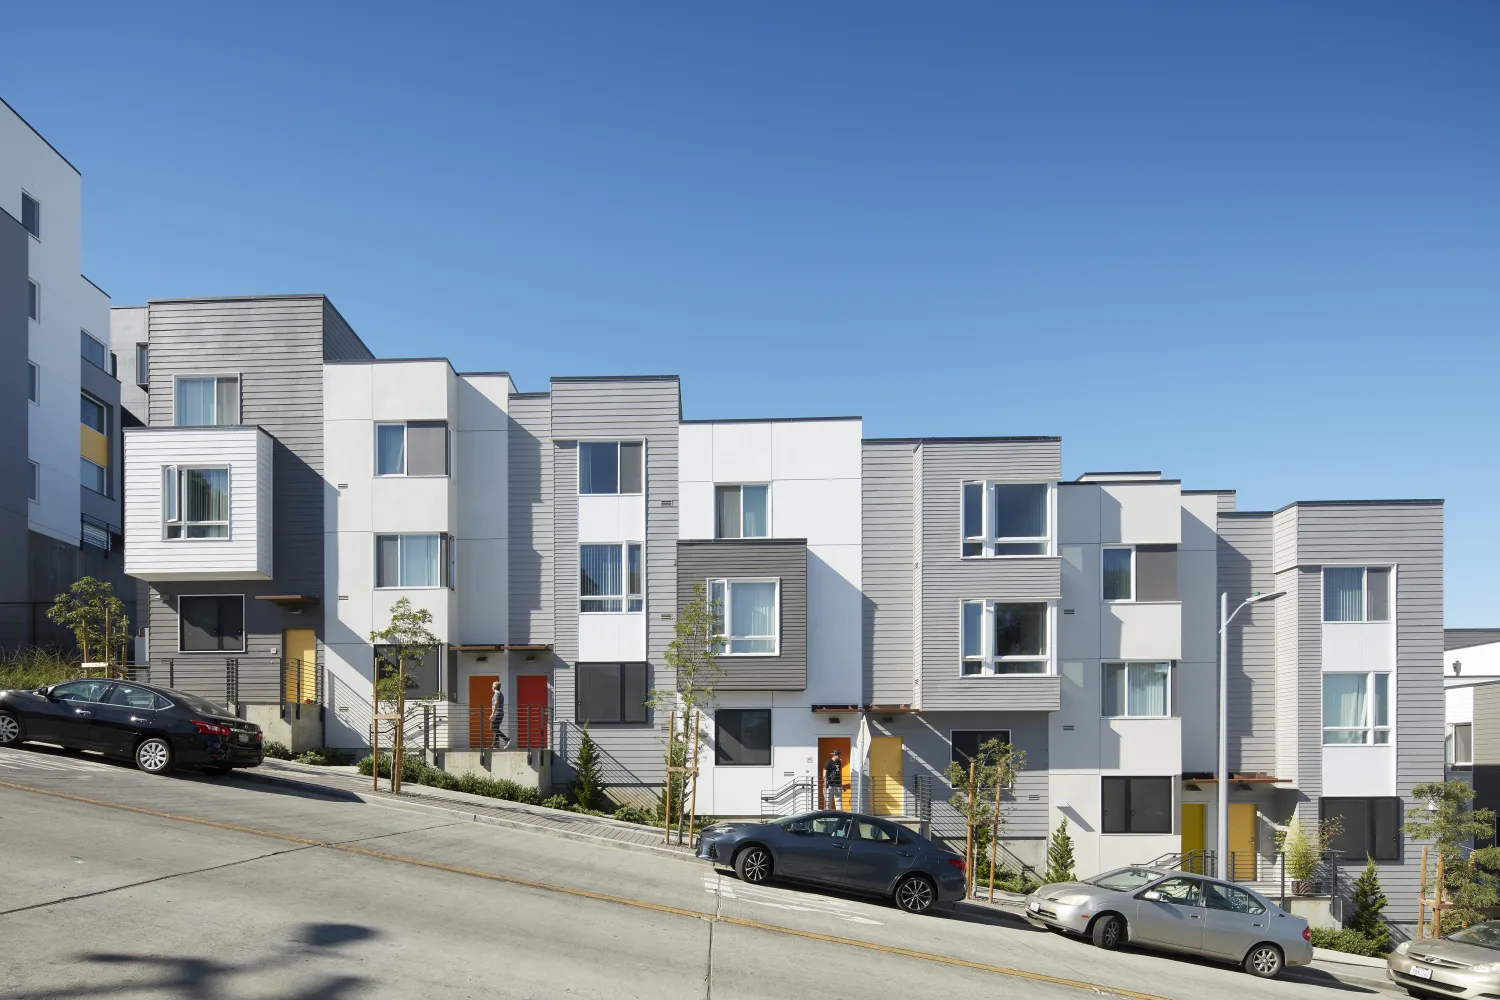
[[(1274, 591), (1270, 516), (1226, 517), (1218, 532), (1218, 592), (1228, 594), (1230, 607), (1257, 591)], [(1228, 766), (1234, 772), (1276, 771), (1275, 615), (1274, 606), (1246, 607), (1228, 631)]]

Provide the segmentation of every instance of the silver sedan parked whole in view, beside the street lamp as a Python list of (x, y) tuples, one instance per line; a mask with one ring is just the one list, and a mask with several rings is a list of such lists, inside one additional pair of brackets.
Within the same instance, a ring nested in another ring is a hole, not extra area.
[(1258, 892), (1161, 868), (1118, 868), (1026, 897), (1026, 919), (1100, 948), (1142, 945), (1234, 963), (1270, 979), (1312, 961), (1308, 922)]

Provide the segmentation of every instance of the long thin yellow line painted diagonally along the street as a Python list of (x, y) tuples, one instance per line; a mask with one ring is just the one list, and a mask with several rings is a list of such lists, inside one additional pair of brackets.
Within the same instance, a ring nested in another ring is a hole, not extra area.
[(291, 841), (292, 844), (304, 844), (308, 847), (328, 847), (332, 850), (342, 850), (351, 855), (363, 855), (366, 858), (376, 858), (380, 861), (393, 861), (402, 865), (414, 865), (417, 868), (432, 868), (435, 871), (447, 871), (458, 876), (470, 876), (474, 879), (488, 879), (490, 882), (504, 882), (514, 886), (525, 886), (528, 889), (542, 889), (546, 892), (561, 892), (570, 897), (580, 897), (584, 900), (596, 900), (598, 903), (615, 903), (618, 906), (630, 906), (642, 910), (654, 910), (657, 913), (670, 913), (674, 916), (686, 916), (694, 921), (706, 921), (717, 924), (732, 924), (735, 927), (747, 927), (758, 931), (768, 931), (772, 934), (788, 934), (790, 937), (802, 937), (813, 942), (825, 942), (828, 945), (843, 945), (846, 948), (862, 948), (872, 952), (882, 952), (886, 955), (900, 955), (903, 958), (916, 958), (920, 961), (936, 963), (940, 966), (954, 966), (958, 969), (974, 969), (976, 972), (994, 973), (998, 976), (1011, 976), (1014, 979), (1029, 979), (1032, 982), (1047, 982), (1058, 987), (1071, 987), (1074, 990), (1088, 990), (1090, 993), (1106, 993), (1116, 997), (1125, 997), (1126, 1000), (1167, 1000), (1166, 997), (1158, 997), (1150, 993), (1134, 993), (1131, 990), (1119, 990), (1114, 987), (1104, 987), (1094, 982), (1086, 982), (1083, 979), (1066, 979), (1064, 976), (1048, 976), (1040, 972), (1028, 972), (1024, 969), (1010, 969), (1006, 966), (988, 966), (984, 963), (972, 963), (964, 958), (952, 958), (951, 955), (938, 955), (934, 952), (918, 952), (909, 948), (896, 948), (894, 945), (878, 945), (874, 942), (861, 942), (854, 937), (838, 937), (836, 934), (819, 934), (818, 931), (804, 931), (795, 927), (782, 927), (778, 924), (764, 924), (760, 921), (748, 921), (740, 916), (723, 916), (717, 913), (710, 913), (706, 910), (687, 910), (682, 907), (666, 906), (663, 903), (648, 903), (646, 900), (633, 900), (630, 897), (609, 895), (608, 892), (591, 892), (588, 889), (574, 889), (572, 886), (560, 886), (550, 882), (537, 882), (536, 879), (520, 879), (518, 876), (502, 876), (496, 871), (483, 871), (482, 868), (464, 868), (462, 865), (447, 865), (440, 861), (424, 861), (422, 858), (406, 858), (405, 855), (392, 855), (382, 850), (372, 850), (369, 847), (358, 847), (357, 844), (338, 844), (332, 841), (312, 840), (308, 837), (294, 837), (292, 834), (278, 834), (276, 831), (262, 831), (254, 826), (237, 826), (236, 823), (220, 823), (218, 820), (206, 820), (198, 816), (183, 816), (182, 813), (164, 813), (160, 810), (147, 810), (140, 805), (124, 805), (123, 802), (108, 802), (105, 799), (93, 799), (82, 795), (69, 795), (66, 792), (54, 792), (51, 789), (38, 789), (28, 784), (16, 784), (14, 781), (0, 781), (0, 789), (15, 789), (16, 792), (33, 792), (36, 795), (48, 795), (58, 799), (68, 799), (70, 802), (82, 802), (86, 805), (102, 805), (111, 810), (123, 810), (126, 813), (138, 813), (141, 816), (153, 816), (164, 820), (177, 820), (180, 823), (196, 823), (200, 826), (212, 826), (214, 829), (234, 831), (237, 834), (254, 834), (256, 837), (273, 837), (276, 840)]

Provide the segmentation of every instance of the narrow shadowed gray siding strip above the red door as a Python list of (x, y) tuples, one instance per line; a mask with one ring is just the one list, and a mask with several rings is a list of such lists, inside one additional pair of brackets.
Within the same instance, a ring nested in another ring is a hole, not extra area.
[(510, 642), (552, 642), (550, 400), (510, 399)]

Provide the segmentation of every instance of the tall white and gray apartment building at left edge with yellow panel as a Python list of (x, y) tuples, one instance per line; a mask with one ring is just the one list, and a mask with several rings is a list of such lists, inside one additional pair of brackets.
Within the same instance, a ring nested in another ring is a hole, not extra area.
[(84, 576), (134, 612), (110, 297), (81, 250), (82, 177), (0, 102), (0, 648), (70, 645), (45, 612)]

